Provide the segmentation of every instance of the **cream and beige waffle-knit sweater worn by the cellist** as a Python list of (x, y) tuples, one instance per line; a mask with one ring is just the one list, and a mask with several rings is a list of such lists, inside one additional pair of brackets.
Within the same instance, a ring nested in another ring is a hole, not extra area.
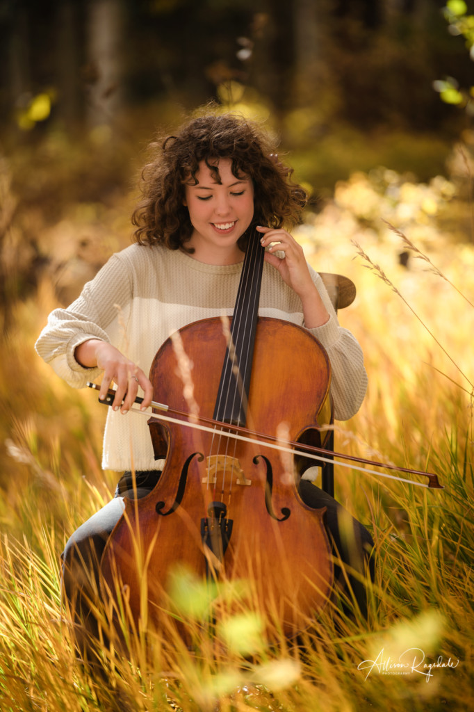
[[(101, 373), (74, 358), (75, 347), (90, 338), (111, 342), (148, 373), (155, 353), (174, 330), (199, 319), (232, 315), (241, 268), (204, 264), (162, 246), (132, 245), (113, 255), (68, 309), (51, 313), (36, 351), (75, 388)], [(367, 388), (362, 350), (339, 326), (320, 276), (310, 271), (330, 313), (329, 321), (310, 333), (330, 358), (335, 417), (346, 420), (359, 409)], [(304, 325), (300, 299), (268, 263), (263, 267), (259, 314)], [(132, 457), (137, 470), (157, 467), (147, 418), (109, 409), (102, 467), (130, 470)]]

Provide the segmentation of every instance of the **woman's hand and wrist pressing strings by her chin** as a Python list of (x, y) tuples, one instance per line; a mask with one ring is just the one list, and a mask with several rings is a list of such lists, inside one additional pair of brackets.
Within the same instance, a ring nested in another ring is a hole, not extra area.
[[(305, 260), (302, 246), (283, 228), (257, 226), (262, 233), (261, 244), (265, 250), (265, 261), (273, 265), (283, 281), (300, 297), (305, 326), (316, 328), (325, 324), (330, 318), (321, 299)], [(274, 252), (282, 251), (284, 257), (278, 257)]]

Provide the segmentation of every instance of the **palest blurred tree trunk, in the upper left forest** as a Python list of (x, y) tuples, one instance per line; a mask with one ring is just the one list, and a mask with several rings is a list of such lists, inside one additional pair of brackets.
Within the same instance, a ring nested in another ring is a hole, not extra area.
[(120, 0), (89, 2), (87, 120), (90, 126), (111, 125), (122, 108), (122, 19)]

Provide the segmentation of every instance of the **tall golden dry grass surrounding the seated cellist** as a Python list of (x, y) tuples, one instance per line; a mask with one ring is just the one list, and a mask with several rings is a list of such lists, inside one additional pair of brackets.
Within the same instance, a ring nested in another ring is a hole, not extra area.
[[(347, 212), (354, 187), (367, 193), (362, 178), (345, 193), (339, 187), (339, 204), (336, 196), (300, 232), (317, 268), (347, 274), (358, 289), (340, 319), (362, 343), (369, 392), (357, 417), (337, 429), (336, 449), (428, 468), (445, 486), (430, 491), (336, 468), (337, 498), (376, 543), (367, 621), (357, 611), (334, 616), (328, 610), (298, 647), (266, 640), (258, 617), (245, 611), (206, 629), (202, 611), (222, 592), (209, 600), (201, 582), (177, 575), (169, 594), (175, 614), (189, 622), (192, 651), (168, 632), (146, 644), (130, 642), (125, 659), (104, 646), (107, 682), (78, 664), (60, 603), (58, 556), (68, 535), (110, 498), (115, 477), (100, 470), (105, 409), (91, 392), (59, 382), (33, 352), (57, 302), (46, 275), (27, 298), (9, 305), (0, 344), (2, 711), (473, 707), (474, 324), (463, 295), (472, 301), (474, 251), (441, 237), (423, 244), (423, 254), (449, 281), (413, 258), (409, 269), (400, 266), (394, 236), (374, 234), (367, 216), (361, 229), (354, 211), (352, 218)], [(324, 245), (322, 234), (330, 236)], [(351, 239), (399, 293), (376, 269), (364, 268)]]

